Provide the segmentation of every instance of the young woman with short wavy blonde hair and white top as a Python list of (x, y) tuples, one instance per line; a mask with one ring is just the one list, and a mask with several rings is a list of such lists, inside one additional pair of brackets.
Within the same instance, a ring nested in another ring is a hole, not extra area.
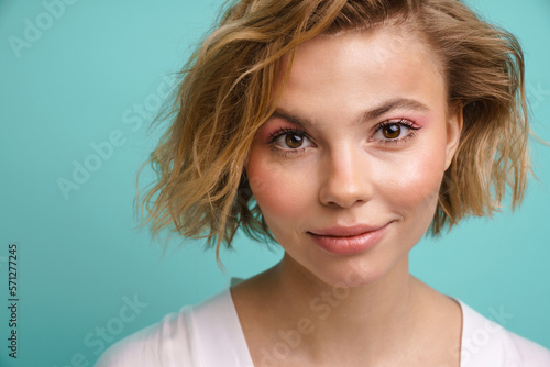
[(218, 255), (241, 227), (285, 255), (98, 366), (550, 366), (408, 271), (428, 230), (491, 214), (507, 188), (521, 201), (514, 36), (457, 0), (243, 0), (176, 107), (151, 159), (153, 231), (204, 235)]

